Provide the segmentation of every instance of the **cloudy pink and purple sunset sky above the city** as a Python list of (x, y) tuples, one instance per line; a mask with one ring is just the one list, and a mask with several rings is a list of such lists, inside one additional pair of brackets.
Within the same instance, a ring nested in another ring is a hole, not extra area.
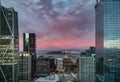
[(36, 33), (39, 49), (95, 46), (95, 0), (1, 0), (18, 12), (20, 50), (23, 33)]

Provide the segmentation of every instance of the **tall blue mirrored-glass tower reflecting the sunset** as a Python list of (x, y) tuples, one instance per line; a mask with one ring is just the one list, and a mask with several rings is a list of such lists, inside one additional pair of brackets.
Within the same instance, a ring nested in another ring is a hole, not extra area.
[(120, 0), (97, 0), (96, 82), (120, 82)]

